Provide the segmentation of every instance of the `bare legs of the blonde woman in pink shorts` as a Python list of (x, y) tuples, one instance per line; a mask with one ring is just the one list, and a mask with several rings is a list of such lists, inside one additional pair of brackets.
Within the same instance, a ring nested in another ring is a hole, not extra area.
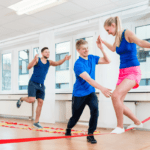
[[(117, 86), (112, 94), (112, 102), (117, 117), (117, 127), (123, 128), (123, 114), (131, 115), (128, 109), (124, 107), (122, 97), (128, 93), (136, 82), (134, 80), (124, 79), (120, 85)], [(131, 115), (132, 116), (132, 115)], [(130, 116), (130, 117), (131, 117)]]

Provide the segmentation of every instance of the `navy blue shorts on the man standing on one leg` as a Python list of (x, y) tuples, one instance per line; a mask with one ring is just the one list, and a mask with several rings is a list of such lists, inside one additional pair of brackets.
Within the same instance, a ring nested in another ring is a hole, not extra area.
[(44, 100), (45, 98), (45, 86), (37, 82), (29, 81), (28, 83), (28, 96), (40, 98)]

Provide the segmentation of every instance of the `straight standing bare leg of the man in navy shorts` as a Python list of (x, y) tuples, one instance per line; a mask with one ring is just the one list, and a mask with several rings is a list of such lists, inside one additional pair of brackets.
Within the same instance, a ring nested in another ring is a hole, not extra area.
[(42, 106), (43, 106), (43, 100), (38, 98), (38, 106), (36, 108), (36, 118), (35, 118), (35, 123), (39, 122), (39, 118), (41, 115), (41, 110), (42, 110)]

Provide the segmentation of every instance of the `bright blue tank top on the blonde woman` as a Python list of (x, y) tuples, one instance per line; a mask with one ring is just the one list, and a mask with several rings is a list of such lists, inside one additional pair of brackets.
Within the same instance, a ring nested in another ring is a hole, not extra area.
[(120, 55), (120, 69), (140, 65), (137, 58), (136, 44), (126, 41), (125, 31), (122, 33), (120, 46), (116, 47), (116, 52)]

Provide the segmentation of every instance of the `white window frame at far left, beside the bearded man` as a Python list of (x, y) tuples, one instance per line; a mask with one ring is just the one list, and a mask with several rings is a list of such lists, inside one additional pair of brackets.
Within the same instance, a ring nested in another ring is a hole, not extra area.
[[(24, 49), (29, 50), (29, 63), (33, 60), (33, 48), (39, 47), (38, 43), (35, 44), (28, 44), (27, 46), (16, 46), (12, 49), (5, 49), (0, 51), (0, 78), (2, 79), (2, 55), (11, 53), (11, 90), (9, 91), (2, 91), (2, 80), (0, 80), (0, 94), (27, 94), (27, 90), (19, 90), (18, 88), (18, 79), (19, 79), (19, 72), (18, 72), (18, 52)], [(17, 60), (17, 61), (14, 61)], [(29, 79), (33, 73), (33, 68), (29, 70)], [(16, 84), (17, 83), (17, 84)]]

